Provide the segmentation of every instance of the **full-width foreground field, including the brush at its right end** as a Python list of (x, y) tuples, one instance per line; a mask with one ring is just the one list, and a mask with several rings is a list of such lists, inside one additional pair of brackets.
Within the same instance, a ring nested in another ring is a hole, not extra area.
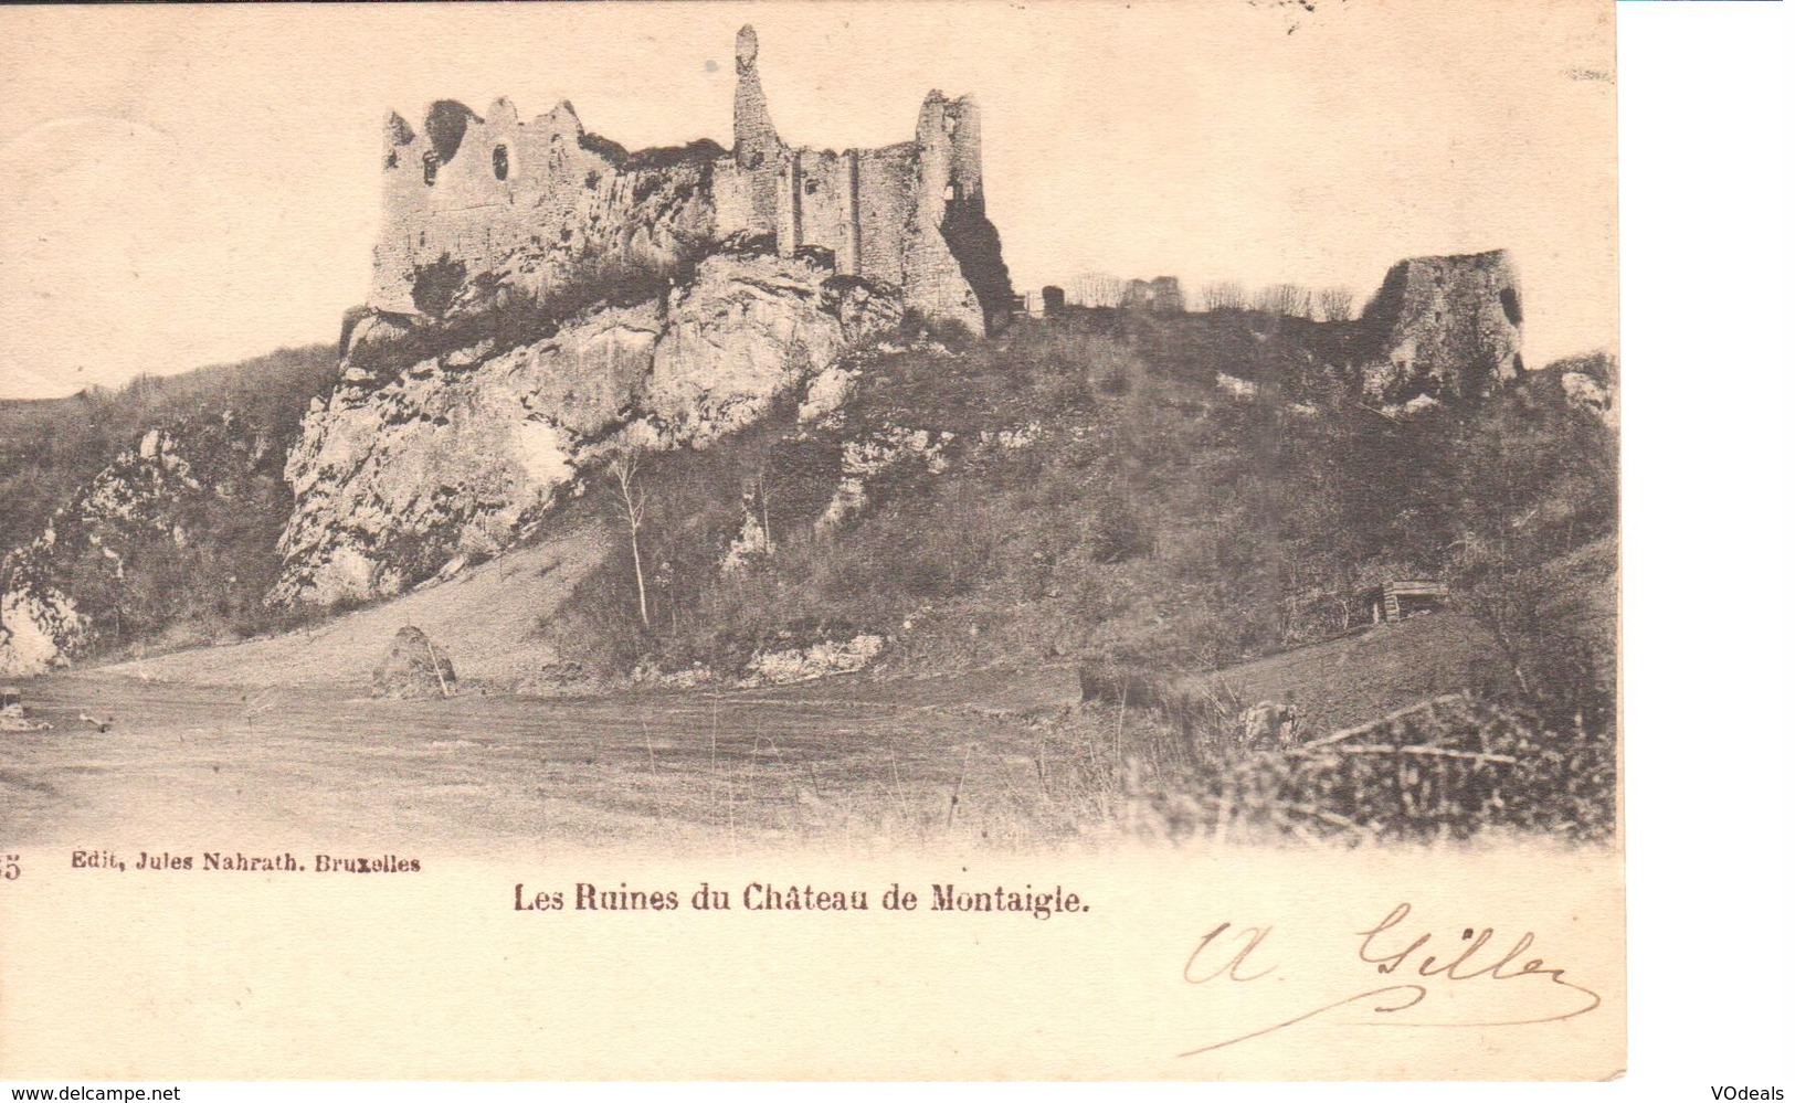
[[(1490, 669), (1486, 647), (1465, 617), (1434, 613), (1172, 685), (1195, 694), (1224, 683), (1244, 701), (1294, 701), (1312, 741), (1416, 699), (1475, 694)], [(591, 699), (472, 685), (449, 699), (377, 701), (343, 683), (206, 689), (118, 669), (29, 690), (32, 716), (56, 728), (5, 737), (0, 838), (133, 854), (1030, 852), (1127, 836), (1316, 843), (1289, 827), (1287, 812), (1382, 816), (1370, 832), (1352, 829), (1355, 839), (1386, 829), (1463, 834), (1492, 820), (1450, 802), (1486, 798), (1490, 784), (1510, 786), (1515, 811), (1502, 821), (1531, 823), (1522, 805), (1538, 805), (1544, 830), (1581, 838), (1603, 834), (1599, 820), (1612, 814), (1603, 811), (1612, 778), (1601, 773), (1612, 751), (1569, 760), (1551, 734), (1524, 719), (1515, 728), (1506, 714), (1459, 714), (1447, 728), (1413, 734), (1429, 746), (1450, 737), (1449, 746), (1474, 748), (1447, 751), (1458, 759), (1486, 755), (1477, 777), (1447, 777), (1434, 759), (1423, 777), (1400, 753), (1319, 762), (1219, 746), (1143, 703), (1081, 703), (1072, 665)], [(81, 712), (118, 723), (102, 734)], [(1404, 737), (1393, 730), (1371, 743)], [(1574, 777), (1529, 782), (1535, 768)], [(1535, 791), (1542, 786), (1554, 791)], [(1569, 812), (1556, 793), (1565, 786), (1589, 789)], [(1409, 807), (1414, 796), (1434, 803)], [(1337, 811), (1316, 811), (1318, 802)], [(1391, 820), (1389, 802), (1404, 816)]]

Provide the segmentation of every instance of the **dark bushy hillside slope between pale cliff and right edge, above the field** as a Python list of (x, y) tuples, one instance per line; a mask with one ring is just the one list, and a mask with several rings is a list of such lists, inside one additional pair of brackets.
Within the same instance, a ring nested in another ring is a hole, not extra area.
[[(835, 418), (786, 411), (705, 452), (644, 457), (646, 624), (619, 556), (544, 631), (609, 676), (729, 673), (757, 649), (858, 633), (914, 669), (1106, 656), (1197, 671), (1341, 631), (1352, 592), (1384, 570), (1502, 590), (1614, 531), (1614, 438), (1556, 378), (1398, 420), (1362, 407), (1350, 362), (1328, 359), (1348, 341), (1240, 312), (1084, 312), (862, 355)], [(860, 506), (831, 524), (856, 470)], [(582, 509), (626, 542), (600, 490)], [(768, 547), (720, 572), (745, 524)]]

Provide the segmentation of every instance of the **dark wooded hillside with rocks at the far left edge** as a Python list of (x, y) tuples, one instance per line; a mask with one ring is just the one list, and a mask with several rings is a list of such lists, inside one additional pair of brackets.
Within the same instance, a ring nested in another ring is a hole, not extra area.
[(275, 626), (285, 457), (334, 377), (320, 344), (0, 404), (0, 586), (39, 615), (72, 603), (45, 630), (72, 658)]

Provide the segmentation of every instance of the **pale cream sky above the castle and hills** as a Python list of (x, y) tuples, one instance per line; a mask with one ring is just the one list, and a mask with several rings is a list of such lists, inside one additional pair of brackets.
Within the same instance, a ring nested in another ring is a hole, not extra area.
[(1616, 341), (1607, 0), (5, 7), (0, 396), (334, 341), (390, 108), (569, 99), (632, 149), (727, 145), (745, 22), (792, 143), (905, 140), (930, 88), (976, 93), (1018, 289), (1362, 298), (1402, 256), (1506, 246), (1529, 362)]

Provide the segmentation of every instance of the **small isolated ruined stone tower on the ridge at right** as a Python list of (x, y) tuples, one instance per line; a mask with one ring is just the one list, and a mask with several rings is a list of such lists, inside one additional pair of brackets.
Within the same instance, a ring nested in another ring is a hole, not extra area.
[(1522, 371), (1520, 285), (1506, 249), (1398, 262), (1361, 325), (1371, 346), (1364, 393), (1379, 404), (1475, 400)]

